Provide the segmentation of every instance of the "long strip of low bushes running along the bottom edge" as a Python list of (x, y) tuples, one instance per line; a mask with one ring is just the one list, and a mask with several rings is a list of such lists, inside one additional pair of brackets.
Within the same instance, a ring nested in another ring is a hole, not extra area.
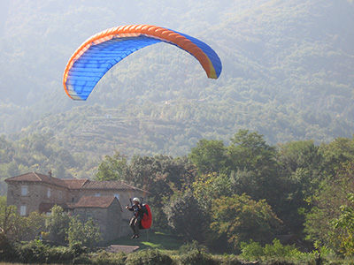
[(260, 246), (257, 242), (243, 243), (241, 256), (212, 255), (196, 242), (182, 246), (180, 252), (175, 255), (168, 255), (156, 249), (145, 249), (132, 254), (112, 254), (106, 251), (87, 254), (81, 244), (76, 244), (75, 247), (51, 247), (39, 240), (22, 245), (15, 244), (13, 249), (11, 259), (6, 260), (3, 257), (0, 261), (88, 265), (245, 265), (255, 262), (259, 265), (313, 265), (318, 264), (320, 253), (320, 264), (354, 264), (353, 257), (341, 258), (325, 246), (320, 247), (319, 251), (302, 253), (295, 246), (281, 245), (276, 239), (273, 244), (266, 246)]

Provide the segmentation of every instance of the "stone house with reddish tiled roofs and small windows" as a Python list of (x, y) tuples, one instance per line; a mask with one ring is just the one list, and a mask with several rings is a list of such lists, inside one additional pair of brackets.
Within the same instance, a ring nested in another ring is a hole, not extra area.
[(51, 173), (47, 176), (30, 172), (6, 178), (5, 182), (7, 204), (16, 206), (20, 216), (34, 211), (50, 214), (54, 205), (60, 205), (83, 222), (91, 217), (100, 227), (104, 242), (131, 233), (131, 212), (125, 207), (131, 198), (147, 194), (123, 181), (61, 179)]

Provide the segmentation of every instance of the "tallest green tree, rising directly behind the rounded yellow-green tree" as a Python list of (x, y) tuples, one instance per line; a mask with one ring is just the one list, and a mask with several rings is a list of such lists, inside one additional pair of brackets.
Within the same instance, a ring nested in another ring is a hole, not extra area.
[(274, 208), (281, 198), (279, 165), (276, 150), (263, 136), (240, 130), (227, 147), (233, 192), (247, 193), (254, 200), (266, 199)]

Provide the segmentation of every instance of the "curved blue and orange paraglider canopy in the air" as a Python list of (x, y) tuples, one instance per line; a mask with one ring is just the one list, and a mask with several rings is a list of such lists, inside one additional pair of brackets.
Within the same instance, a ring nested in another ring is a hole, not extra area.
[(202, 64), (209, 78), (219, 77), (221, 61), (204, 42), (164, 27), (128, 25), (93, 35), (73, 53), (64, 72), (66, 94), (73, 100), (85, 101), (114, 64), (136, 50), (158, 42), (170, 43), (189, 52)]

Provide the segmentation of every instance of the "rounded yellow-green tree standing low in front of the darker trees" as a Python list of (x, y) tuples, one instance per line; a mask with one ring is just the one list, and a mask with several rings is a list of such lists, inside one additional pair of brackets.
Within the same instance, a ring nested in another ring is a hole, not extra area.
[(212, 202), (211, 229), (238, 248), (243, 241), (270, 242), (281, 229), (281, 220), (265, 200), (246, 194), (221, 197)]

